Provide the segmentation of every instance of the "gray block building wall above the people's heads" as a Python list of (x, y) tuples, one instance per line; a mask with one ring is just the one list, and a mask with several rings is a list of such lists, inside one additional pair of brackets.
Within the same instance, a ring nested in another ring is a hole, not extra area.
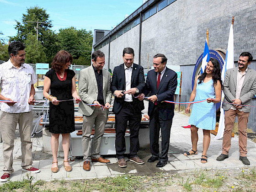
[[(147, 53), (149, 64), (156, 53), (164, 53), (171, 65), (195, 64), (203, 53), (207, 28), (209, 48), (226, 50), (233, 16), (235, 59), (245, 50), (256, 56), (256, 0), (176, 0), (142, 22), (142, 66), (147, 67)], [(134, 48), (136, 63), (139, 25), (110, 46), (111, 68), (122, 63), (125, 47)]]

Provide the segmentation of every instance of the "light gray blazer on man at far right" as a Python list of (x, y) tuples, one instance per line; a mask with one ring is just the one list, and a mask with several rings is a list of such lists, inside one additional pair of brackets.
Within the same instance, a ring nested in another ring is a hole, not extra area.
[[(233, 99), (235, 99), (236, 92), (236, 81), (237, 81), (237, 72), (238, 67), (233, 69), (228, 69), (224, 78), (223, 83), (223, 92), (225, 94), (224, 101), (232, 103)], [(242, 101), (242, 105), (251, 105), (251, 99), (256, 95), (256, 71), (250, 69), (245, 74), (245, 80), (242, 85), (242, 90), (240, 94), (240, 100)], [(223, 103), (222, 108), (225, 111), (228, 111), (232, 105), (228, 103)], [(250, 112), (251, 107), (242, 107), (243, 112)]]

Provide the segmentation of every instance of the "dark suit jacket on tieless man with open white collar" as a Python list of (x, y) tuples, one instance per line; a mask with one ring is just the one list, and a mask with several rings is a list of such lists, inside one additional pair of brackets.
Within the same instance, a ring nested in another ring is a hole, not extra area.
[[(138, 64), (133, 64), (131, 88), (134, 87), (137, 87), (139, 89), (139, 93), (141, 93), (145, 87), (143, 67), (141, 67)], [(125, 90), (124, 64), (120, 64), (119, 66), (115, 67), (112, 76), (110, 90), (113, 94), (116, 90)], [(137, 95), (139, 94), (135, 94), (135, 96)], [(124, 97), (125, 95), (123, 95), (121, 98), (115, 97), (113, 106), (113, 112), (115, 114), (121, 110), (123, 106)], [(138, 107), (139, 111), (142, 111), (144, 109), (143, 101), (139, 101), (139, 99), (133, 97), (133, 103)]]

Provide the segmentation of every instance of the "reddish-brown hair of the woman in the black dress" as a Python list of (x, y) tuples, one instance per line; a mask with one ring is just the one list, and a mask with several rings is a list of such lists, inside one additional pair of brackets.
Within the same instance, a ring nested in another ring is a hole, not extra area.
[(53, 58), (52, 69), (54, 69), (58, 74), (60, 74), (65, 64), (69, 61), (70, 63), (72, 63), (72, 55), (65, 50), (60, 50)]

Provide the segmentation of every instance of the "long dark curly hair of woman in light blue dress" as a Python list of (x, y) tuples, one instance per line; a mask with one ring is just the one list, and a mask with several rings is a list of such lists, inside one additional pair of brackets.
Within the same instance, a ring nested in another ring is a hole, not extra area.
[[(220, 67), (219, 67), (219, 61), (217, 59), (213, 59), (211, 58), (210, 61), (212, 62), (213, 64), (213, 86), (217, 84), (218, 80), (220, 82), (220, 85), (221, 85), (221, 89), (223, 89), (223, 85), (222, 85), (222, 80), (221, 80), (221, 70), (220, 70)], [(202, 75), (200, 75), (198, 77), (198, 80), (199, 80), (199, 83), (198, 84), (201, 84), (203, 82), (203, 80), (205, 79), (207, 73), (206, 73), (206, 68), (204, 69), (204, 72), (202, 73)]]

